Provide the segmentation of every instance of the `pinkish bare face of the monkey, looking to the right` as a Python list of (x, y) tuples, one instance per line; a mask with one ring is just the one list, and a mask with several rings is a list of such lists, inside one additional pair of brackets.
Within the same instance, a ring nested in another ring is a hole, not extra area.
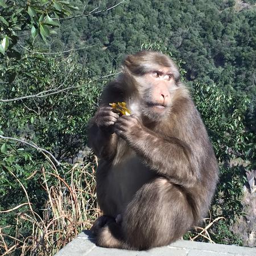
[(139, 84), (142, 115), (152, 121), (166, 117), (178, 88), (171, 69), (162, 67), (147, 72), (140, 77)]

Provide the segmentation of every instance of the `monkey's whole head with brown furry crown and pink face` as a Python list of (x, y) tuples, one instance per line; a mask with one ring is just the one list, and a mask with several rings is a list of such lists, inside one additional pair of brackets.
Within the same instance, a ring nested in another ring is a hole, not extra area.
[(167, 117), (182, 86), (174, 61), (159, 52), (141, 51), (126, 57), (123, 73), (136, 84), (139, 113), (151, 121)]

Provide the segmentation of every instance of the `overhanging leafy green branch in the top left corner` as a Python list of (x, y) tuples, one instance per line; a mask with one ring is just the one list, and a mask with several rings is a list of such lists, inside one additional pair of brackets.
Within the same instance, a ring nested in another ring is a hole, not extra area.
[(19, 57), (15, 46), (19, 43), (20, 31), (31, 31), (32, 39), (37, 35), (47, 43), (49, 34), (55, 34), (53, 30), (60, 26), (60, 18), (71, 14), (71, 10), (77, 10), (65, 1), (31, 0), (24, 4), (23, 1), (0, 2), (0, 52), (9, 57)]

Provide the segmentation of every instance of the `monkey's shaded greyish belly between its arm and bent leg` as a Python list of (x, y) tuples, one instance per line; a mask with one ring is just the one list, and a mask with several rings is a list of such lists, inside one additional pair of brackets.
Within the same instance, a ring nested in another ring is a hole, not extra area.
[[(127, 204), (133, 200), (135, 193), (154, 176), (154, 172), (135, 155), (113, 165), (106, 177), (104, 199), (108, 204), (109, 214), (116, 216), (122, 213)], [(105, 209), (102, 210), (105, 212)]]

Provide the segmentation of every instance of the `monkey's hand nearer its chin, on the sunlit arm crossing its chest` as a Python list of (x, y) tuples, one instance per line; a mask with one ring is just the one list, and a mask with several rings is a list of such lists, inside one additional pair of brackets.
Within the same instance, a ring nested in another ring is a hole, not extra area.
[(134, 140), (140, 136), (142, 131), (143, 125), (135, 115), (122, 115), (114, 125), (114, 132), (117, 136), (129, 144), (133, 144)]

